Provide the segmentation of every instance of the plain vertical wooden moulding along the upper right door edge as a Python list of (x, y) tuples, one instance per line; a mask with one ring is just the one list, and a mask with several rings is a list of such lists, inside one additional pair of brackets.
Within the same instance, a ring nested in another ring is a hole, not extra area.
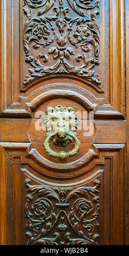
[[(110, 103), (125, 115), (125, 5), (122, 1), (110, 4)], [(115, 84), (115, 86), (114, 86)], [(116, 96), (117, 95), (117, 96)]]

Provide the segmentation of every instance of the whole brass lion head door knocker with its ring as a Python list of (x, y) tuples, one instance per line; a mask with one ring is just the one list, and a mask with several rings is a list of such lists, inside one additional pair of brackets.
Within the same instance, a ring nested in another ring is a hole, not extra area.
[[(72, 107), (66, 108), (58, 105), (55, 108), (48, 108), (45, 117), (46, 122), (46, 139), (44, 142), (45, 151), (52, 157), (57, 157), (60, 160), (65, 160), (77, 154), (80, 142), (77, 138), (77, 116)], [(52, 139), (53, 144), (60, 147), (66, 147), (67, 144), (75, 140), (75, 147), (69, 152), (60, 151), (57, 153), (50, 148), (49, 142)]]

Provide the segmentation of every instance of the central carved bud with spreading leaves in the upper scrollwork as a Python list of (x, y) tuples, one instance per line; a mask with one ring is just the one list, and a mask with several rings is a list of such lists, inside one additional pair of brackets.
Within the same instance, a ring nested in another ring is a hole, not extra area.
[(60, 59), (63, 59), (64, 57), (66, 59), (70, 58), (70, 54), (74, 55), (74, 51), (72, 47), (66, 48), (66, 36), (65, 35), (59, 35), (57, 36), (57, 47), (51, 47), (48, 51), (48, 53), (53, 53), (53, 58), (56, 59), (59, 57)]

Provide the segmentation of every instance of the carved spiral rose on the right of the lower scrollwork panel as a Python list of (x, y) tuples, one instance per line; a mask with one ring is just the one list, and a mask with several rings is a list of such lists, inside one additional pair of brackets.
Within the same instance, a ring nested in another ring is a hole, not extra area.
[(89, 215), (91, 211), (93, 211), (93, 204), (87, 199), (79, 199), (76, 205), (76, 210), (79, 215), (81, 215), (80, 219), (84, 221), (84, 216)]

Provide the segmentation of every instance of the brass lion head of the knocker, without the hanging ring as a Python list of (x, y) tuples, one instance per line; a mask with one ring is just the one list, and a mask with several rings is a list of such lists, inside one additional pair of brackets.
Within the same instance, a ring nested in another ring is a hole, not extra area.
[(72, 132), (76, 136), (77, 116), (72, 107), (66, 108), (58, 105), (55, 108), (48, 108), (45, 122), (46, 137), (50, 136), (53, 132), (56, 133), (56, 135), (51, 137), (56, 145), (65, 147), (68, 143), (72, 142), (72, 136), (67, 135), (66, 132)]

